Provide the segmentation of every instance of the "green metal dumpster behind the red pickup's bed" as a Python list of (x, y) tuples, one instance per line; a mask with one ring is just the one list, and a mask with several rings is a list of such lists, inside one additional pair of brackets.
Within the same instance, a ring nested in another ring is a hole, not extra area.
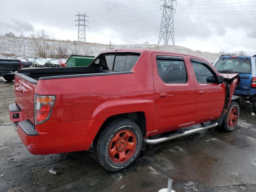
[(67, 67), (88, 66), (94, 60), (94, 56), (71, 55), (66, 62)]

